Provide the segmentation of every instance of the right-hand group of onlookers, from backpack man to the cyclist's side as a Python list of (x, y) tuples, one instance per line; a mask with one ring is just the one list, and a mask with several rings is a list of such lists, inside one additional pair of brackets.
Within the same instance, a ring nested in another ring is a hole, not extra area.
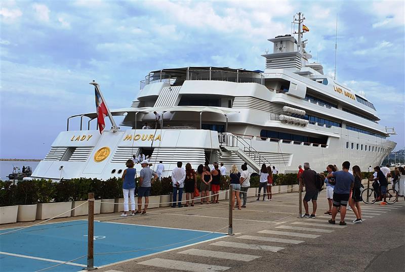
[[(374, 167), (374, 172), (370, 175), (369, 180), (373, 181), (373, 188), (377, 194), (377, 201), (381, 201), (380, 205), (387, 205), (386, 192), (388, 189), (388, 178), (391, 177), (389, 165), (381, 167)], [(298, 166), (299, 172), (297, 178), (299, 179), (300, 190), (305, 187), (305, 196), (303, 198), (303, 205), (305, 208), (304, 218), (315, 218), (316, 215), (316, 200), (318, 198), (321, 186), (326, 186), (326, 197), (328, 199), (329, 209), (325, 214), (329, 214), (332, 218), (329, 220), (331, 224), (335, 224), (336, 216), (340, 212), (340, 225), (346, 225), (345, 216), (346, 208), (353, 211), (356, 219), (353, 223), (362, 223), (361, 219), (361, 192), (364, 186), (361, 184), (362, 173), (358, 165), (354, 165), (350, 169), (350, 162), (345, 161), (342, 163), (342, 170), (339, 170), (336, 165), (328, 165), (326, 167), (327, 175), (323, 173), (316, 173), (311, 170), (309, 163), (304, 163), (304, 170), (301, 165)], [(368, 168), (372, 172), (371, 166)], [(395, 169), (393, 177), (393, 188), (398, 191), (399, 196), (404, 195), (405, 191), (405, 170), (403, 167)], [(323, 179), (323, 184), (318, 182)], [(309, 214), (308, 202), (312, 202), (312, 213)], [(349, 205), (349, 207), (347, 207)]]

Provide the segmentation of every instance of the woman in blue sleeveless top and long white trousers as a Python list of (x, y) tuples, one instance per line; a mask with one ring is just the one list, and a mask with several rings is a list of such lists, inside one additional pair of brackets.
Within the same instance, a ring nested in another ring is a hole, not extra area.
[(135, 176), (136, 169), (134, 168), (134, 161), (128, 160), (125, 165), (128, 167), (123, 173), (123, 193), (124, 193), (124, 213), (121, 214), (123, 217), (127, 217), (127, 212), (129, 211), (128, 206), (128, 195), (131, 200), (131, 215), (135, 215)]

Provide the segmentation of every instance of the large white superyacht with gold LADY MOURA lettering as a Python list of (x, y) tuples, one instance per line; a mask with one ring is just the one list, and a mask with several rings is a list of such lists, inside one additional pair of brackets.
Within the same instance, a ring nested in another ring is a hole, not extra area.
[[(297, 39), (269, 39), (274, 50), (262, 55), (264, 72), (156, 70), (141, 81), (131, 107), (108, 112), (111, 129), (90, 129), (95, 112), (69, 117), (67, 131), (59, 133), (31, 178), (119, 177), (125, 162), (140, 153), (151, 156), (153, 168), (163, 161), (164, 175), (177, 161), (193, 168), (223, 162), (227, 169), (247, 162), (254, 171), (265, 163), (280, 173), (297, 171), (306, 161), (317, 171), (345, 160), (364, 171), (380, 165), (396, 145), (388, 140), (395, 132), (378, 123), (364, 95), (324, 75), (320, 63), (309, 62), (304, 19), (297, 14)], [(153, 112), (160, 115), (157, 128)], [(125, 116), (120, 125), (130, 129), (117, 127), (111, 115)], [(80, 130), (69, 130), (73, 117), (80, 118)], [(142, 129), (145, 123), (153, 128)]]

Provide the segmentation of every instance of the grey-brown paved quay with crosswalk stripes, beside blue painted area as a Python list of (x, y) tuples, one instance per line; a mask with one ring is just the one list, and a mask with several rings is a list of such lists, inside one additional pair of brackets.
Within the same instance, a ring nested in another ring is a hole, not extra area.
[[(198, 243), (190, 242), (188, 245), (168, 250), (149, 252), (147, 256), (126, 255), (125, 260), (115, 263), (109, 261), (108, 264), (99, 265), (98, 271), (404, 270), (403, 198), (387, 206), (362, 204), (362, 217), (365, 219), (363, 223), (351, 223), (354, 213), (348, 211), (346, 226), (328, 223), (330, 216), (324, 214), (328, 207), (324, 191), (319, 195), (317, 203), (316, 219), (304, 219), (297, 218), (298, 193), (274, 195), (273, 200), (269, 202), (255, 201), (252, 197), (246, 209), (233, 210), (234, 236), (219, 236)], [(310, 211), (311, 206), (310, 204)], [(99, 214), (95, 219), (118, 225), (122, 223), (226, 233), (228, 201), (210, 205), (197, 203), (194, 207), (150, 209), (148, 214), (135, 217), (123, 218), (119, 214)], [(86, 219), (86, 217), (58, 218), (53, 221), (72, 219)], [(24, 224), (12, 226), (16, 225)], [(144, 240), (145, 237), (137, 238), (137, 235), (144, 236), (145, 233), (137, 234), (137, 231), (123, 233), (122, 240), (114, 233), (117, 243), (114, 246), (127, 244), (127, 250), (132, 248), (139, 250), (136, 241)], [(131, 239), (126, 239), (128, 236), (131, 236)], [(175, 242), (186, 240), (182, 237), (176, 239)], [(131, 244), (134, 243), (133, 246), (128, 245), (129, 241)], [(95, 252), (97, 250), (95, 243)]]

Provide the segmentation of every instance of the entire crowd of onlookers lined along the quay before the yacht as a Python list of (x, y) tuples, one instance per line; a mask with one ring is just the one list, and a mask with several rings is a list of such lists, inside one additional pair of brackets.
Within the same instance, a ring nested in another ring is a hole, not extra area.
[[(145, 158), (145, 155), (140, 153), (138, 156), (133, 156), (133, 159), (128, 160), (127, 169), (124, 171), (123, 193), (124, 193), (124, 213), (121, 216), (135, 215), (138, 213), (146, 214), (148, 207), (148, 197), (150, 195), (151, 183), (157, 178), (161, 178), (165, 167), (162, 161), (156, 166), (156, 172), (149, 168), (150, 156)], [(136, 187), (136, 163), (140, 163), (142, 169), (140, 171), (139, 187)], [(215, 204), (219, 203), (220, 180), (221, 176), (226, 175), (226, 167), (223, 163), (220, 165), (214, 162), (213, 169), (209, 165), (198, 165), (194, 170), (190, 163), (187, 163), (185, 168), (183, 163), (178, 162), (177, 167), (173, 169), (171, 178), (173, 185), (173, 201), (172, 207), (183, 207), (182, 196), (186, 194), (185, 207), (194, 206), (194, 197), (200, 194), (200, 204)], [(232, 208), (237, 205), (238, 209), (246, 208), (247, 192), (250, 187), (250, 175), (246, 163), (240, 166), (239, 171), (236, 165), (232, 165), (229, 171), (230, 186), (233, 189), (231, 199)], [(370, 171), (371, 167), (369, 167)], [(310, 168), (308, 162), (304, 163), (304, 167), (298, 166), (297, 179), (300, 190), (305, 187), (305, 196), (303, 205), (305, 208), (304, 218), (316, 217), (316, 200), (323, 185), (326, 187), (326, 197), (329, 204), (329, 209), (325, 214), (329, 214), (332, 218), (330, 223), (335, 224), (336, 216), (340, 213), (340, 225), (345, 225), (346, 209), (353, 210), (356, 219), (353, 223), (362, 223), (361, 219), (361, 191), (364, 188), (361, 184), (362, 174), (360, 167), (354, 165), (350, 169), (350, 162), (342, 163), (342, 170), (334, 164), (326, 167), (326, 176), (323, 173), (317, 173)], [(266, 166), (263, 164), (259, 171), (259, 189), (256, 201), (270, 201), (272, 199), (271, 188), (273, 186), (274, 175), (278, 174), (278, 169), (275, 166)], [(197, 176), (200, 177), (201, 183), (197, 188)], [(377, 193), (377, 201), (381, 201), (380, 205), (386, 205), (386, 192), (388, 187), (388, 178), (391, 177), (388, 165), (385, 167), (374, 167), (374, 173), (369, 177), (373, 181), (373, 188)], [(403, 167), (395, 168), (393, 176), (393, 188), (395, 188), (400, 196), (405, 194), (405, 170)], [(262, 193), (263, 190), (263, 193)], [(210, 198), (211, 192), (211, 198)], [(138, 194), (138, 210), (135, 211), (135, 195)], [(142, 198), (145, 198), (144, 209), (141, 210)], [(236, 199), (236, 203), (235, 203)], [(243, 201), (242, 201), (243, 200)], [(309, 213), (308, 202), (312, 202), (312, 213)], [(131, 203), (131, 213), (129, 214), (129, 202)], [(347, 207), (349, 206), (349, 207)]]

